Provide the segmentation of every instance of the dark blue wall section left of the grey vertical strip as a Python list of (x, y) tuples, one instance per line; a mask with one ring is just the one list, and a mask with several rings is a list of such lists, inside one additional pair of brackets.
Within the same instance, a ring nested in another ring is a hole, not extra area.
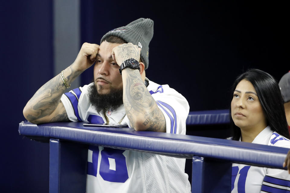
[[(1, 192), (48, 192), (49, 146), (18, 134), (22, 110), (53, 76), (52, 2), (1, 1)], [(4, 95), (5, 94), (5, 95)]]

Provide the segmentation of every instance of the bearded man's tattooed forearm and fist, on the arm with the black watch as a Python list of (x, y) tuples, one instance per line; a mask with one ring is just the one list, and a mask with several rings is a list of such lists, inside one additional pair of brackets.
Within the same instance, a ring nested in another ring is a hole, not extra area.
[[(118, 65), (125, 60), (140, 60), (140, 50), (132, 43), (117, 46), (112, 51)], [(122, 70), (123, 102), (127, 117), (136, 131), (166, 131), (165, 118), (144, 84), (144, 64), (140, 71), (125, 68)]]

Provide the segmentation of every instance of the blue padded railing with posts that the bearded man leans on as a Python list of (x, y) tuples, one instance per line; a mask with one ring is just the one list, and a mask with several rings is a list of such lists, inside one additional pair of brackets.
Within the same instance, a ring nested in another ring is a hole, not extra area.
[(50, 192), (85, 192), (87, 144), (192, 158), (192, 192), (200, 193), (230, 192), (231, 163), (283, 169), (288, 152), (239, 141), (82, 124), (19, 124), (21, 135), (50, 142)]

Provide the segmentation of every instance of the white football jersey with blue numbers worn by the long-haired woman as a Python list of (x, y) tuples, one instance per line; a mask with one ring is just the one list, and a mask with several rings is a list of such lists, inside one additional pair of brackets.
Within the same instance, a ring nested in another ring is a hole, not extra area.
[[(270, 126), (252, 143), (290, 148), (289, 139), (272, 131)], [(231, 189), (232, 193), (286, 193), (290, 192), (290, 175), (287, 170), (233, 163)]]

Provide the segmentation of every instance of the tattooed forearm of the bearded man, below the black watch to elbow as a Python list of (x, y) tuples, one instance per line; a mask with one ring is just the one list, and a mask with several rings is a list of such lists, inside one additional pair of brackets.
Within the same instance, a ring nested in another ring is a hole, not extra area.
[(139, 71), (125, 70), (128, 73), (123, 84), (123, 102), (131, 125), (135, 129), (142, 126), (143, 131), (165, 132), (164, 115), (143, 83)]

